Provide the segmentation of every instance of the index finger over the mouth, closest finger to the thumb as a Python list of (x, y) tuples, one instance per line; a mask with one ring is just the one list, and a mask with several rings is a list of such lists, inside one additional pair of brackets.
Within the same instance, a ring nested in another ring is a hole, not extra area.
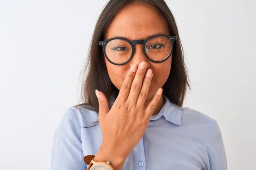
[(131, 90), (131, 84), (134, 81), (136, 71), (137, 71), (137, 64), (134, 64), (126, 74), (125, 80), (122, 83), (122, 87), (119, 91), (119, 94), (116, 100), (121, 102), (125, 102), (127, 100)]

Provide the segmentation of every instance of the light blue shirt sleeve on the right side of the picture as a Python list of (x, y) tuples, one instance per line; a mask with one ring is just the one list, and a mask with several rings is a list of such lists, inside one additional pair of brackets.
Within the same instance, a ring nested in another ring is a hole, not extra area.
[(221, 130), (215, 120), (209, 129), (205, 147), (208, 156), (206, 170), (227, 170), (227, 158)]

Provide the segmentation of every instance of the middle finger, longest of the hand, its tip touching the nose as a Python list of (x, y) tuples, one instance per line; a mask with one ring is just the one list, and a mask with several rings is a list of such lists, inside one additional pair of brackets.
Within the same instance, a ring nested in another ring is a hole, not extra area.
[(147, 63), (141, 62), (136, 72), (136, 75), (134, 77), (134, 81), (132, 82), (132, 85), (131, 85), (131, 91), (127, 100), (129, 100), (131, 103), (134, 103), (134, 105), (137, 103), (137, 99), (140, 93), (140, 89), (142, 87), (142, 82), (144, 79), (146, 68), (147, 68)]

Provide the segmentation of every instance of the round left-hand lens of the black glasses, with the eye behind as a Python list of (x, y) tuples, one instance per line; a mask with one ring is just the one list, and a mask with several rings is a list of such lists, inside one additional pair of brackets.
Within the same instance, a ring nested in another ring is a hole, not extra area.
[(111, 62), (122, 64), (131, 57), (131, 45), (121, 39), (111, 40), (105, 47), (106, 55)]

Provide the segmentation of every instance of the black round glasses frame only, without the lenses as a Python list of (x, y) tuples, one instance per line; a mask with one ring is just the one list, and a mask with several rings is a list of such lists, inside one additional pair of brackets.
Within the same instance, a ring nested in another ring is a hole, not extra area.
[[(162, 60), (160, 60), (160, 61), (155, 61), (155, 60), (149, 58), (148, 55), (146, 54), (145, 45), (146, 45), (146, 43), (148, 42), (148, 40), (150, 40), (150, 39), (153, 38), (153, 37), (158, 37), (158, 36), (167, 37), (167, 38), (171, 41), (172, 49), (171, 49), (171, 52), (170, 52), (170, 54), (168, 55), (168, 57), (166, 57), (165, 59), (162, 59)], [(173, 51), (174, 41), (177, 40), (177, 36), (171, 36), (171, 35), (166, 35), (166, 34), (155, 34), (155, 35), (152, 35), (152, 36), (148, 37), (146, 40), (132, 40), (132, 41), (130, 41), (130, 40), (128, 40), (128, 39), (126, 39), (126, 38), (123, 38), (123, 37), (114, 37), (114, 38), (110, 38), (110, 39), (105, 40), (105, 41), (99, 41), (99, 45), (101, 45), (101, 46), (103, 47), (103, 52), (104, 52), (104, 54), (105, 54), (105, 56), (106, 56), (107, 59), (108, 59), (108, 56), (107, 56), (107, 54), (106, 54), (105, 47), (106, 47), (106, 45), (108, 44), (108, 42), (110, 42), (111, 40), (116, 40), (116, 39), (125, 40), (125, 41), (127, 41), (127, 42), (131, 45), (131, 49), (132, 49), (132, 51), (131, 51), (131, 57), (132, 57), (133, 54), (134, 54), (134, 45), (135, 45), (135, 44), (143, 44), (143, 47), (142, 47), (143, 52), (144, 52), (145, 56), (146, 56), (150, 61), (152, 61), (152, 62), (163, 62), (163, 61), (165, 61), (166, 59), (168, 59), (168, 58), (171, 56), (172, 51)], [(103, 56), (103, 57), (104, 57), (104, 56)], [(121, 64), (114, 63), (114, 62), (112, 62), (110, 59), (108, 59), (108, 61), (109, 61), (111, 64), (113, 64), (113, 65), (124, 65), (124, 64), (126, 64), (127, 62), (130, 61), (131, 57), (130, 57), (126, 62), (121, 63)]]

